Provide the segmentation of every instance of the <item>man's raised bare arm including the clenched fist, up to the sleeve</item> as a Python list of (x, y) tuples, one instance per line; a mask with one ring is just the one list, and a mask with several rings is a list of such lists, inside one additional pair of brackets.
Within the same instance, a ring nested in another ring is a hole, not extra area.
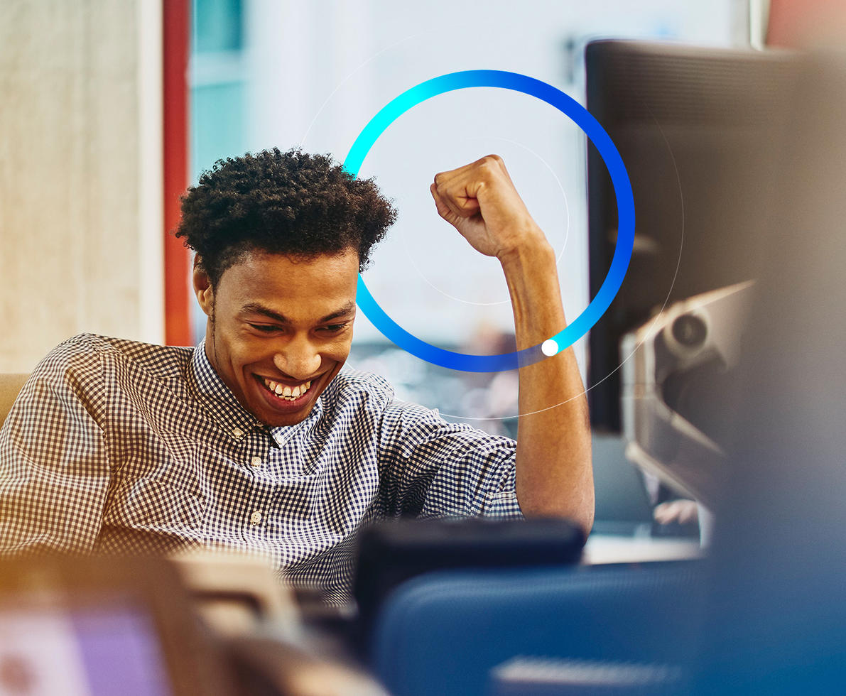
[[(503, 266), (517, 348), (562, 331), (566, 322), (555, 255), (526, 210), (503, 160), (486, 156), (437, 174), (438, 213), (474, 249)], [(591, 426), (572, 348), (519, 369), (516, 490), (526, 517), (565, 517), (585, 533), (593, 523)]]

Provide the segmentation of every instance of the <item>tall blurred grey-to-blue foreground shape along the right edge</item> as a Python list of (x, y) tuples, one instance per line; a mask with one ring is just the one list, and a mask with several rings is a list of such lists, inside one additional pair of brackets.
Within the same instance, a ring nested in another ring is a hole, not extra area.
[(846, 60), (808, 58), (790, 96), (698, 693), (839, 693), (846, 681)]

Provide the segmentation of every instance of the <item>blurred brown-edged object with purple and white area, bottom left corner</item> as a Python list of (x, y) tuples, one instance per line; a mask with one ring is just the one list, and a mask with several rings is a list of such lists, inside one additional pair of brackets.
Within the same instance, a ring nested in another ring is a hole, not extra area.
[(3, 693), (233, 693), (220, 655), (198, 629), (166, 562), (0, 561)]

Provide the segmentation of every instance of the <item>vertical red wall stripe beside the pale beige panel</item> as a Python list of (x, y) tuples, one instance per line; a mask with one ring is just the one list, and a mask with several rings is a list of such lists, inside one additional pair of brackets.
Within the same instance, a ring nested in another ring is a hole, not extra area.
[(172, 234), (188, 187), (190, 3), (162, 0), (165, 343), (180, 346), (192, 343), (190, 253)]

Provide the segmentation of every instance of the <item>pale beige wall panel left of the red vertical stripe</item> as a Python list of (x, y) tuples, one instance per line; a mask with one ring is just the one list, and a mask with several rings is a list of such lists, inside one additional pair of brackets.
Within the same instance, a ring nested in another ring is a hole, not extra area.
[(162, 19), (148, 0), (0, 3), (0, 371), (162, 315)]

